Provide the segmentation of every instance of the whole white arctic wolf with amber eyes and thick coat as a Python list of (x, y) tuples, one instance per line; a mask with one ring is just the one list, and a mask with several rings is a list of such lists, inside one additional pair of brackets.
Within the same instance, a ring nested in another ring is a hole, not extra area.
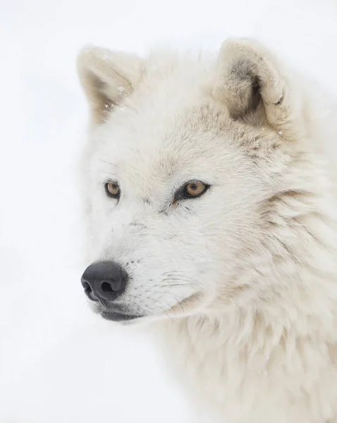
[(336, 106), (249, 39), (78, 73), (96, 312), (158, 328), (219, 422), (336, 423)]

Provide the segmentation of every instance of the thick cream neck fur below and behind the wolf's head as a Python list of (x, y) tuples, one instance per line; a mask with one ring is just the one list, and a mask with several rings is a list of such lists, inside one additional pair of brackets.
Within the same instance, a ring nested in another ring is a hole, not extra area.
[(336, 413), (333, 166), (324, 154), (296, 149), (291, 183), (263, 204), (262, 238), (247, 243), (233, 273), (235, 289), (219, 293), (209, 312), (164, 323), (170, 360), (173, 354), (192, 390), (221, 409), (221, 422), (250, 416), (252, 423), (320, 423), (328, 421), (324, 407), (326, 416)]

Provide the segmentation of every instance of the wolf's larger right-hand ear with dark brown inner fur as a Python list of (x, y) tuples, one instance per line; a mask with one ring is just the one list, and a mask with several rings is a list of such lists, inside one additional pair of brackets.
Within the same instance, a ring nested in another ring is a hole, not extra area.
[(228, 39), (221, 46), (217, 66), (214, 97), (226, 104), (232, 118), (293, 131), (295, 111), (288, 80), (261, 44)]

